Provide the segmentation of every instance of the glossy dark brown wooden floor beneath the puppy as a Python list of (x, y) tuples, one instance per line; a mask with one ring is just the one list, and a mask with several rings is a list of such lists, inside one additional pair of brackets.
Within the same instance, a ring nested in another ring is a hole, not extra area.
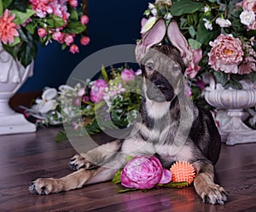
[(38, 177), (71, 172), (68, 159), (75, 150), (68, 141), (55, 143), (59, 129), (35, 134), (0, 136), (0, 211), (256, 211), (256, 144), (223, 145), (216, 171), (229, 193), (225, 205), (201, 202), (194, 187), (163, 188), (117, 194), (112, 182), (49, 196), (32, 195), (28, 186)]

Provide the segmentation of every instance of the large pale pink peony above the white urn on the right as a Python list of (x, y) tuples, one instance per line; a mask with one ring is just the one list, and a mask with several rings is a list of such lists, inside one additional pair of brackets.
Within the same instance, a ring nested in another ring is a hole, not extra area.
[(219, 35), (213, 42), (209, 55), (208, 64), (215, 71), (225, 73), (237, 73), (238, 65), (242, 61), (243, 51), (241, 41), (238, 38)]

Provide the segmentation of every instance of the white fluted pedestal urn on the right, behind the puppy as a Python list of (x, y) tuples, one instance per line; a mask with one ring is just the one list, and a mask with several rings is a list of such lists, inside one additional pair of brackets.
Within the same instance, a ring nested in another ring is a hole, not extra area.
[[(224, 89), (221, 84), (216, 89), (207, 89), (205, 99), (217, 109), (226, 111), (226, 121), (220, 123), (219, 132), (227, 145), (256, 142), (256, 130), (242, 122), (244, 109), (256, 106), (256, 84), (241, 82), (242, 89)], [(228, 121), (227, 121), (228, 120)]]

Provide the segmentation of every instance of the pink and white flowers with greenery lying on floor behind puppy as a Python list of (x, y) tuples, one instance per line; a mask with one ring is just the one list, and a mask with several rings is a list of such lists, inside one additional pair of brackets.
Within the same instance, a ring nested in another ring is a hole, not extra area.
[[(134, 72), (126, 65), (108, 71), (102, 66), (102, 75), (96, 80), (74, 87), (61, 85), (58, 90), (46, 88), (31, 108), (23, 109), (38, 125), (70, 123), (75, 135), (94, 134), (113, 124), (121, 129), (129, 127), (140, 108), (140, 74), (141, 70)], [(65, 139), (61, 135), (56, 139)]]

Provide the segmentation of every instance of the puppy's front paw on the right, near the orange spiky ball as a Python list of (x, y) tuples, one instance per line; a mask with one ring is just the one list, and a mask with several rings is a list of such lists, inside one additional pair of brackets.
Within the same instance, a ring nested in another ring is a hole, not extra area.
[(224, 204), (228, 199), (228, 194), (222, 186), (212, 184), (205, 186), (201, 192), (201, 198), (204, 203)]

